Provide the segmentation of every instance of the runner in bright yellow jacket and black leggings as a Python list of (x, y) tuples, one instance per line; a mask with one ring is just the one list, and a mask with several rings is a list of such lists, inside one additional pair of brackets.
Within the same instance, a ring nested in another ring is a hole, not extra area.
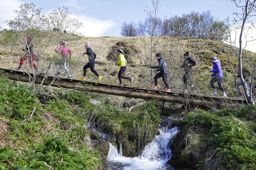
[(123, 86), (123, 84), (122, 84), (122, 78), (124, 78), (124, 79), (129, 79), (130, 80), (130, 83), (132, 83), (132, 81), (133, 81), (133, 78), (132, 77), (126, 77), (126, 76), (124, 76), (124, 74), (125, 74), (125, 71), (126, 71), (126, 63), (127, 63), (127, 61), (126, 61), (126, 59), (125, 59), (125, 56), (123, 55), (123, 50), (118, 50), (117, 51), (117, 55), (118, 55), (118, 62), (116, 63), (116, 65), (119, 65), (120, 66), (120, 70), (119, 70), (119, 72), (118, 72), (118, 79), (119, 79), (119, 82), (120, 82), (120, 84), (119, 84), (119, 86)]

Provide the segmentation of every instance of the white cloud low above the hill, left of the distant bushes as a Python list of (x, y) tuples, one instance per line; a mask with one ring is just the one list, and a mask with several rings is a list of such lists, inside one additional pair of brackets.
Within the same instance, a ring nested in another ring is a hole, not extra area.
[(83, 28), (78, 30), (87, 37), (101, 37), (103, 33), (115, 25), (112, 20), (101, 20), (86, 15), (72, 15), (72, 18), (78, 19), (83, 23)]

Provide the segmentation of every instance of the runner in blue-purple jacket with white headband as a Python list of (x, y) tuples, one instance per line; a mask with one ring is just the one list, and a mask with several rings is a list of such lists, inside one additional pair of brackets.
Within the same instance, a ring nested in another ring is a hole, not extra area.
[(217, 96), (217, 91), (216, 91), (216, 87), (214, 86), (214, 82), (218, 83), (219, 88), (222, 90), (223, 92), (223, 96), (220, 96), (221, 98), (225, 98), (227, 97), (226, 93), (225, 93), (225, 89), (222, 87), (222, 80), (223, 80), (223, 74), (222, 74), (222, 69), (220, 67), (220, 60), (217, 59), (216, 57), (212, 57), (211, 58), (211, 62), (213, 63), (213, 69), (209, 71), (209, 73), (213, 73), (211, 74), (211, 81), (210, 81), (210, 85), (211, 87), (213, 87), (213, 93), (210, 94), (210, 96)]

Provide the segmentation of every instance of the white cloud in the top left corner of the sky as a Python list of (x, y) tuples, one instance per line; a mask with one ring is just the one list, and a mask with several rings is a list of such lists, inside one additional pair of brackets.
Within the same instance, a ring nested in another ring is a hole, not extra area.
[(6, 20), (12, 20), (16, 16), (14, 10), (18, 10), (22, 4), (19, 0), (1, 0), (0, 1), (0, 26), (2, 29), (9, 28), (4, 22)]

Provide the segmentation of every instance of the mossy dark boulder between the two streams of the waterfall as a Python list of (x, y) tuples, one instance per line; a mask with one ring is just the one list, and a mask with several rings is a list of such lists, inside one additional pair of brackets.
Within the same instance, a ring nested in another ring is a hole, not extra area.
[(117, 149), (120, 150), (120, 144), (122, 145), (122, 155), (126, 157), (135, 157), (135, 145), (132, 141), (129, 141), (126, 138), (117, 139)]

